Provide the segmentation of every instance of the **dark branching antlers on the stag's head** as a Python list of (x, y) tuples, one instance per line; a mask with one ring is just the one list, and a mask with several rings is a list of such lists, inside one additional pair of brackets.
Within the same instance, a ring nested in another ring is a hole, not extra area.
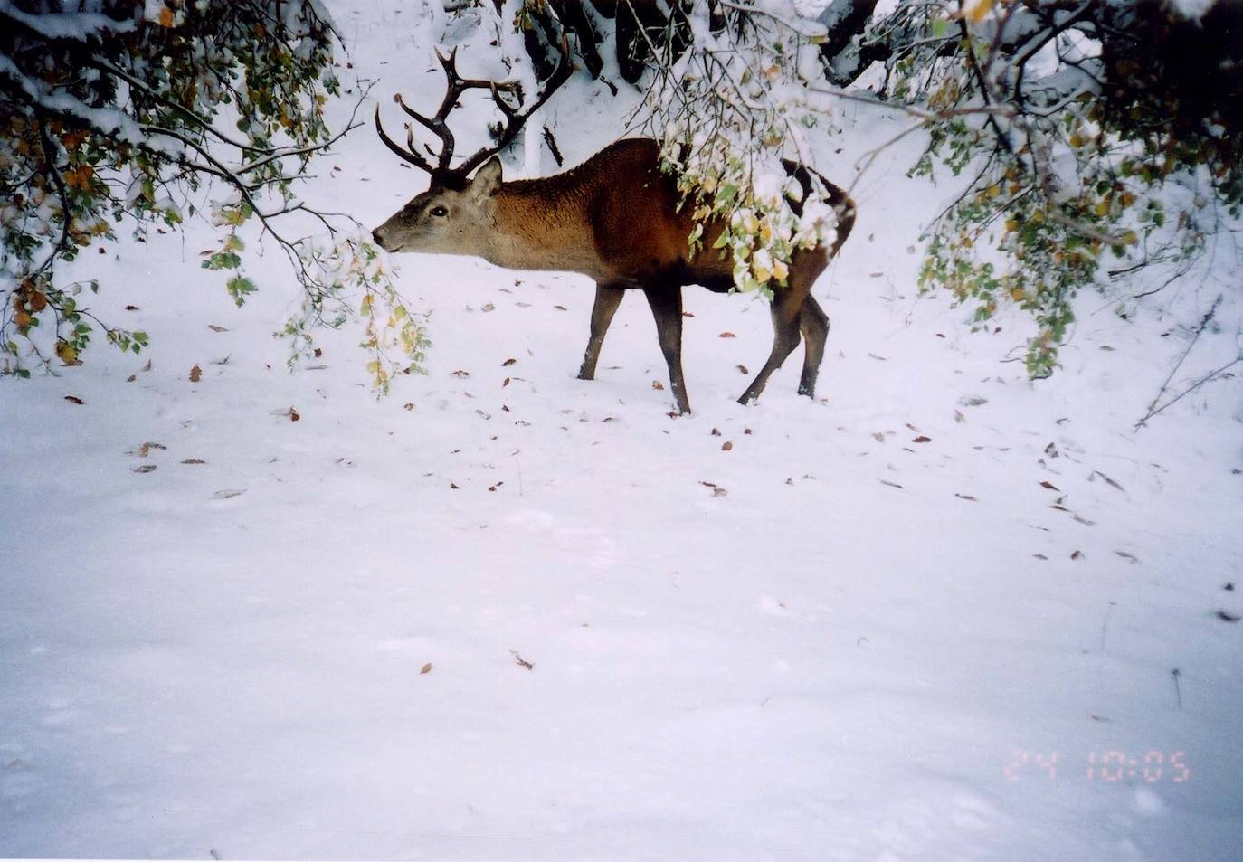
[[(404, 111), (411, 119), (418, 120), (429, 132), (440, 138), (441, 148), (440, 154), (436, 157), (435, 165), (425, 159), (418, 149), (415, 149), (414, 130), (409, 125), (406, 125), (406, 145), (404, 148), (384, 133), (384, 127), (380, 123), (380, 109), (378, 106), (375, 108), (375, 132), (379, 133), (380, 140), (383, 140), (390, 150), (397, 153), (398, 157), (416, 168), (425, 170), (428, 174), (431, 174), (433, 178), (444, 176), (446, 174), (465, 176), (481, 165), (486, 159), (505, 149), (505, 147), (513, 140), (515, 135), (517, 135), (522, 124), (527, 122), (527, 118), (538, 111), (558, 87), (569, 79), (574, 67), (573, 63), (571, 63), (569, 46), (564, 37), (558, 45), (558, 48), (561, 57), (557, 63), (557, 68), (553, 70), (553, 73), (544, 82), (543, 92), (539, 93), (534, 102), (532, 102), (531, 107), (526, 111), (522, 111), (521, 106), (515, 107), (510, 104), (501, 97), (502, 92), (520, 93), (521, 99), (521, 89), (516, 81), (497, 83), (496, 81), (484, 81), (480, 78), (462, 78), (457, 75), (457, 48), (450, 51), (447, 57), (440, 53), (440, 51), (436, 51), (436, 60), (440, 61), (440, 66), (445, 70), (446, 79), (445, 98), (441, 99), (436, 113), (431, 117), (425, 117), (408, 106), (400, 94), (393, 97), (393, 101), (397, 102), (401, 107), (401, 111)], [(505, 125), (501, 128), (501, 134), (497, 137), (495, 145), (482, 147), (477, 153), (467, 158), (460, 165), (451, 168), (450, 160), (454, 157), (454, 145), (456, 142), (446, 120), (449, 114), (457, 106), (457, 99), (461, 98), (461, 94), (467, 89), (487, 89), (492, 94), (492, 102), (496, 103), (497, 109), (505, 116)]]

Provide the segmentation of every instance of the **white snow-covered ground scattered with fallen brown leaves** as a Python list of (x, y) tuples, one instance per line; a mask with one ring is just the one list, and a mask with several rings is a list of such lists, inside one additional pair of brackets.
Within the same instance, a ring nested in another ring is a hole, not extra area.
[[(434, 102), (409, 6), (333, 4)], [(572, 161), (620, 133), (585, 78), (549, 112)], [(584, 383), (585, 279), (405, 257), (429, 374), (377, 401), (357, 332), (286, 373), (278, 255), (242, 311), (208, 230), (83, 256), (153, 349), (0, 380), (0, 856), (1243, 858), (1238, 380), (1132, 427), (1223, 284), (1084, 297), (1033, 385), (1021, 320), (916, 299), (911, 155), (817, 287), (815, 402), (799, 354), (733, 401), (745, 297), (687, 291), (672, 419), (640, 298)], [(321, 173), (367, 224), (424, 184), (365, 129)]]

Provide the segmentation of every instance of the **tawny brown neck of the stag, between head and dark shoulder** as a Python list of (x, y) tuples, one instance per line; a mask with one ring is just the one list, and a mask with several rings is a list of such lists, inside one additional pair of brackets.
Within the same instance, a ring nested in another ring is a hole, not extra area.
[(493, 196), (495, 226), (484, 257), (512, 270), (593, 274), (598, 267), (584, 199), (547, 180), (505, 183)]

